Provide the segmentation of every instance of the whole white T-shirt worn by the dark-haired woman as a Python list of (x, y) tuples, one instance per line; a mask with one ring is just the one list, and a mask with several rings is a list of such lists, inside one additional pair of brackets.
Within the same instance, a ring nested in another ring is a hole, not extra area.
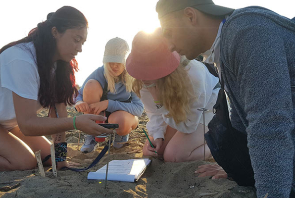
[[(38, 100), (40, 77), (33, 42), (18, 44), (0, 54), (0, 125), (17, 125), (12, 92)], [(42, 106), (38, 102), (36, 112)], [(7, 127), (6, 127), (7, 128)]]

